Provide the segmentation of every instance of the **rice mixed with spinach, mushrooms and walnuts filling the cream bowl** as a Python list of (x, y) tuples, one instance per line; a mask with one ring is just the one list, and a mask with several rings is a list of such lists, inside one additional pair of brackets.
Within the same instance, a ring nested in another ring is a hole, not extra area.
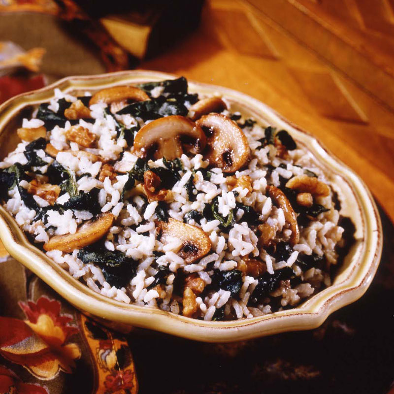
[(0, 163), (4, 207), (92, 290), (204, 320), (291, 308), (331, 283), (339, 201), (288, 131), (185, 78), (42, 103)]

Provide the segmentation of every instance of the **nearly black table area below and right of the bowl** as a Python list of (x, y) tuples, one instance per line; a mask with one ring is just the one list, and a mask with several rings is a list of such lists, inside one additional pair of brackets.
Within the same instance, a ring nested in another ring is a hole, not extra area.
[(394, 228), (367, 293), (310, 331), (203, 344), (136, 330), (140, 394), (387, 393), (394, 379)]

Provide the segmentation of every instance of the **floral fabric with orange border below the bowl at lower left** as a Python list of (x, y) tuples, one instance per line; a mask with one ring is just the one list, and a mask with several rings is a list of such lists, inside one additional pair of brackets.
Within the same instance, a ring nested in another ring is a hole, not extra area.
[(0, 263), (0, 394), (135, 394), (126, 339), (14, 259)]

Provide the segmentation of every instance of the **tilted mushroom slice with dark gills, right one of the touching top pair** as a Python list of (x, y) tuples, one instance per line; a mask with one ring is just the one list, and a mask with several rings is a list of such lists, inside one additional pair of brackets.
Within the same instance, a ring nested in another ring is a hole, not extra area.
[(235, 172), (248, 162), (248, 140), (230, 118), (222, 114), (209, 114), (198, 119), (196, 124), (207, 135), (205, 158), (210, 164), (223, 168), (224, 172)]

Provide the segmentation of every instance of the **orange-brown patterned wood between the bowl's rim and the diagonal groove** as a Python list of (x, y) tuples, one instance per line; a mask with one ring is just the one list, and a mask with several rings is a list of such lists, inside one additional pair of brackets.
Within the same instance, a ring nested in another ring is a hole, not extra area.
[(140, 68), (265, 102), (355, 170), (394, 222), (393, 110), (248, 1), (208, 0), (199, 29)]

